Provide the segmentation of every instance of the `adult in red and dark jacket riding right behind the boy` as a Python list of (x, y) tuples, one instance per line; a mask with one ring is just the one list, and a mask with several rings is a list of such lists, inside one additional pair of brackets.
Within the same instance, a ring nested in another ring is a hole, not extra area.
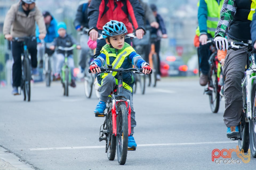
[[(131, 18), (132, 23), (129, 20)], [(141, 39), (145, 33), (144, 10), (139, 1), (134, 0), (93, 0), (88, 7), (89, 36), (92, 41), (97, 40), (102, 33), (102, 27), (110, 20), (118, 20), (126, 25), (127, 33), (136, 30), (136, 36)], [(130, 39), (126, 42), (130, 44)], [(97, 40), (96, 53), (99, 53), (106, 41)]]

